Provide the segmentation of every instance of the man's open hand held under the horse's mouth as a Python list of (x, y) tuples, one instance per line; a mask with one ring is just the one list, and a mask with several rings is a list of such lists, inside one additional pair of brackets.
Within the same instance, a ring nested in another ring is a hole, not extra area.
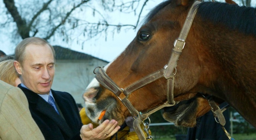
[(93, 129), (92, 124), (83, 125), (80, 130), (80, 136), (82, 140), (104, 140), (114, 135), (120, 129), (117, 123), (115, 120), (105, 120), (95, 129)]

